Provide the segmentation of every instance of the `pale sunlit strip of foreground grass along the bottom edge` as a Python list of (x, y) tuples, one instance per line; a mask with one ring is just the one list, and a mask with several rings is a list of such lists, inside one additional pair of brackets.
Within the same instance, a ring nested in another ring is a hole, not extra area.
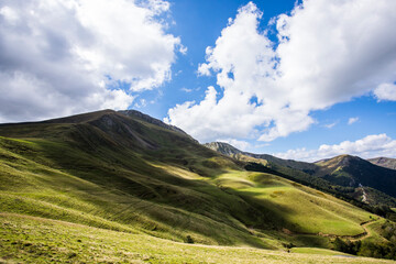
[(395, 263), (315, 249), (308, 253), (319, 254), (185, 244), (14, 213), (0, 213), (0, 234), (6, 263)]

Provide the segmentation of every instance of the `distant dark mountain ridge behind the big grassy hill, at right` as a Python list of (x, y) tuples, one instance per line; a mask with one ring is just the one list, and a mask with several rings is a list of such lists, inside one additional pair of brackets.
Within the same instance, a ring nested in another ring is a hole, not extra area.
[[(305, 182), (319, 180), (318, 184), (320, 186), (326, 186), (326, 182), (328, 182), (343, 187), (353, 187), (356, 188), (356, 191), (361, 193), (358, 188), (361, 188), (363, 185), (393, 196), (392, 200), (396, 197), (396, 172), (376, 166), (358, 156), (344, 154), (315, 163), (305, 163), (293, 160), (282, 160), (268, 154), (242, 152), (228, 143), (215, 142), (205, 145), (223, 154), (231, 153), (231, 156), (240, 160), (246, 158), (238, 155), (256, 158), (258, 160), (258, 163), (264, 160), (266, 161), (264, 165), (272, 169), (286, 175), (294, 175), (297, 179), (302, 179)], [(232, 152), (224, 152), (224, 148), (232, 150)], [(328, 188), (332, 187), (330, 186)], [(352, 194), (351, 196), (355, 195)], [(383, 198), (378, 199), (383, 200)], [(395, 202), (396, 200), (392, 201), (392, 205), (394, 206)]]

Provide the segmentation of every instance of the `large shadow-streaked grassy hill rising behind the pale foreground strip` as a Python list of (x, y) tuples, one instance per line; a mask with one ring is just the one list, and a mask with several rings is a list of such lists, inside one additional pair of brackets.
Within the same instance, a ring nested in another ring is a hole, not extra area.
[(0, 211), (266, 249), (331, 248), (329, 239), (304, 233), (358, 234), (370, 218), (320, 191), (241, 170), (153, 124), (111, 112), (76, 119), (0, 127), (19, 138), (0, 138)]

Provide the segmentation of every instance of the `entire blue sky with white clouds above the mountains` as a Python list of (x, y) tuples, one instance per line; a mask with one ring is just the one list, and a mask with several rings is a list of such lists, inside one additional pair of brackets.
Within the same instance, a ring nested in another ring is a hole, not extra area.
[(201, 143), (396, 157), (394, 0), (0, 0), (0, 122), (135, 109)]

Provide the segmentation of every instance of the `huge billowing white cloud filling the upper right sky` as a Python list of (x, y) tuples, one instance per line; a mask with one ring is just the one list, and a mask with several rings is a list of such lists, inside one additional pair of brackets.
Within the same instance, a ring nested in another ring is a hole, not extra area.
[(396, 80), (395, 9), (392, 0), (306, 0), (272, 20), (275, 45), (258, 30), (262, 12), (250, 2), (198, 67), (201, 76), (216, 75), (219, 89), (177, 105), (167, 120), (200, 141), (272, 141), (307, 130), (311, 111)]

